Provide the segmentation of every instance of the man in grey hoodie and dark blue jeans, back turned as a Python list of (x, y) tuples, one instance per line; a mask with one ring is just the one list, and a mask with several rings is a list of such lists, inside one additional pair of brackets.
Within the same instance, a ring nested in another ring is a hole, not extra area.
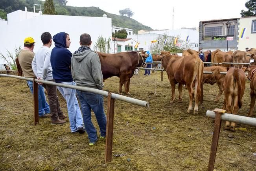
[[(92, 40), (90, 35), (83, 33), (80, 36), (81, 47), (75, 51), (71, 58), (71, 73), (73, 80), (79, 86), (103, 89), (103, 75), (99, 55), (90, 49)], [(97, 131), (91, 120), (91, 110), (93, 110), (100, 132), (100, 139), (106, 136), (107, 120), (103, 108), (103, 96), (92, 92), (76, 91), (81, 103), (85, 130), (90, 140), (89, 145), (94, 145), (98, 140)]]

